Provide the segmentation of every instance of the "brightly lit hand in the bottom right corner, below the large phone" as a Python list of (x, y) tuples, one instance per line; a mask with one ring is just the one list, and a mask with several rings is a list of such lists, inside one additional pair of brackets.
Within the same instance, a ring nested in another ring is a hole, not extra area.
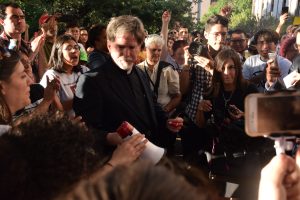
[(296, 160), (281, 154), (261, 171), (258, 200), (300, 199), (300, 151)]

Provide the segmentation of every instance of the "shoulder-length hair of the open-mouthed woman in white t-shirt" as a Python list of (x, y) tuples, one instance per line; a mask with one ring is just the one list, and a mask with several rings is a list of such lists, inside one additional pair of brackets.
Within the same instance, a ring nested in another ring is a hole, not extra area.
[[(71, 35), (61, 35), (59, 36), (53, 47), (52, 47), (52, 51), (51, 51), (51, 55), (49, 58), (49, 67), (54, 69), (57, 72), (60, 73), (64, 73), (65, 70), (63, 68), (64, 65), (64, 59), (63, 59), (63, 44), (65, 42), (68, 42), (70, 40), (73, 40), (76, 44), (76, 40), (71, 36)], [(79, 72), (81, 69), (80, 65), (73, 67), (73, 71), (74, 72)]]

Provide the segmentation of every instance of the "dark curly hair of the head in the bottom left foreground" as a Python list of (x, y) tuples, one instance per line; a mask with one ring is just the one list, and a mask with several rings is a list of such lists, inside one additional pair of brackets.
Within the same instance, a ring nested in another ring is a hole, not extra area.
[(52, 200), (101, 162), (91, 135), (67, 116), (39, 116), (2, 140), (10, 148), (0, 147), (1, 199)]

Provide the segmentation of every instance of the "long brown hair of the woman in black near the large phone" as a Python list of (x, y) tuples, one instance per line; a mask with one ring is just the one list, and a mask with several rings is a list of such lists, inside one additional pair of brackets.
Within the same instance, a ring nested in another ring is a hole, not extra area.
[(248, 86), (248, 82), (243, 78), (242, 74), (242, 63), (239, 55), (230, 48), (226, 48), (220, 51), (216, 58), (216, 68), (214, 69), (213, 77), (212, 77), (212, 84), (211, 87), (208, 89), (208, 92), (205, 96), (207, 97), (217, 97), (219, 95), (220, 90), (223, 88), (222, 82), (222, 73), (223, 67), (225, 62), (228, 59), (232, 59), (235, 70), (236, 70), (236, 89), (244, 90)]

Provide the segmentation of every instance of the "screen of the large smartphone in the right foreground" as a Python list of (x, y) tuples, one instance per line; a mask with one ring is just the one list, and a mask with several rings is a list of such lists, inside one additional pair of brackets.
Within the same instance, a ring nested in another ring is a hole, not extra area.
[(300, 130), (300, 96), (257, 99), (257, 131)]

